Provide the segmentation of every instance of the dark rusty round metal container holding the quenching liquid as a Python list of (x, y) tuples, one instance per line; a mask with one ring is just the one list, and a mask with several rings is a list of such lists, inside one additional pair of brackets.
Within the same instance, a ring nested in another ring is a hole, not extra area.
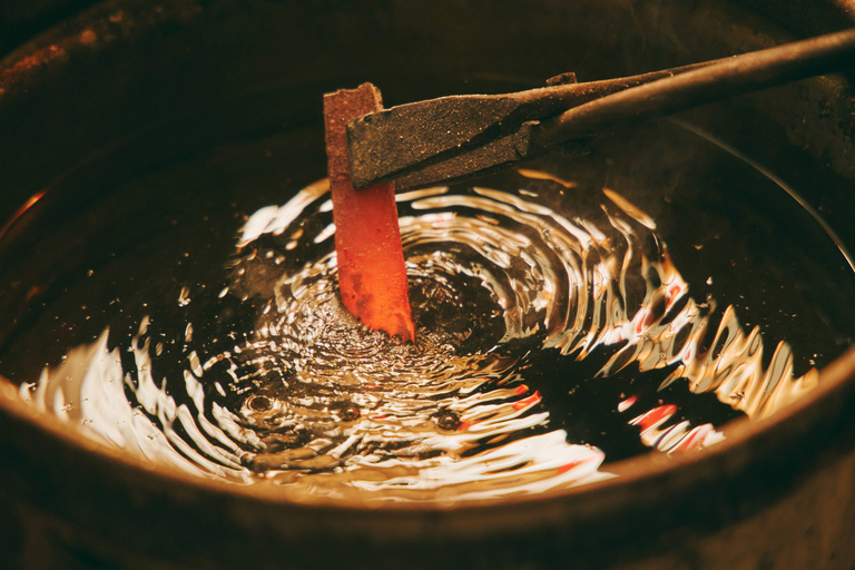
[[(372, 80), (387, 101), (404, 102), (570, 70), (617, 77), (853, 22), (847, 2), (107, 2), (0, 62), (0, 233), (17, 239), (3, 255), (27, 253), (16, 219), (61, 220), (130, 173), (213, 139), (313, 124), (325, 90)], [(777, 175), (853, 248), (851, 79), (810, 80), (691, 118), (780, 165)], [(306, 102), (286, 108), (283, 94)], [(122, 160), (107, 160), (117, 145)], [(42, 191), (61, 198), (22, 208)], [(75, 250), (71, 243), (66, 253)], [(63, 271), (53, 262), (0, 286), (0, 342), (20, 308), (39, 301), (33, 285)], [(851, 332), (845, 317), (831, 315), (829, 326)], [(704, 453), (645, 455), (593, 485), (451, 508), (296, 503), (273, 487), (193, 478), (94, 443), (2, 381), (0, 558), (24, 569), (848, 569), (855, 352), (846, 348), (817, 390), (767, 420), (733, 422)]]

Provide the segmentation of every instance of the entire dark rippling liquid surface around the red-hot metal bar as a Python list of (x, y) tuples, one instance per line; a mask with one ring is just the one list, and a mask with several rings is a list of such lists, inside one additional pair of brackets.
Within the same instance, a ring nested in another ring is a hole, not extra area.
[(28, 220), (61, 275), (0, 373), (108, 445), (295, 495), (478, 500), (698, 452), (816, 386), (853, 275), (774, 180), (659, 129), (400, 194), (415, 343), (338, 302), (314, 135), (185, 157)]

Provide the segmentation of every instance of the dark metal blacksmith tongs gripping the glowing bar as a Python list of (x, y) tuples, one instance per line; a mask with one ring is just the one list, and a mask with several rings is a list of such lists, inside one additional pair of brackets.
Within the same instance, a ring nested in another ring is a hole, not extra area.
[(621, 125), (848, 68), (855, 29), (639, 76), (579, 83), (564, 73), (540, 89), (401, 105), (347, 124), (353, 184), (403, 189), (485, 174)]

